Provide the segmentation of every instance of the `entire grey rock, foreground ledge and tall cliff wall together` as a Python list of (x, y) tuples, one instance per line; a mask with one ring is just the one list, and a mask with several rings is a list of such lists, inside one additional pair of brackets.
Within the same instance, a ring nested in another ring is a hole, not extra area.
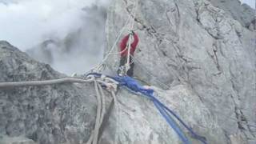
[[(111, 2), (106, 52), (136, 2)], [(215, 6), (205, 0), (138, 0), (134, 74), (208, 143), (252, 144), (256, 34)], [(118, 54), (106, 64), (116, 71)], [(65, 77), (7, 42), (0, 42), (0, 76), (0, 82)], [(149, 99), (122, 88), (117, 96), (99, 143), (181, 143)], [(0, 90), (0, 143), (19, 138), (27, 143), (84, 143), (94, 127), (96, 106), (90, 84)]]

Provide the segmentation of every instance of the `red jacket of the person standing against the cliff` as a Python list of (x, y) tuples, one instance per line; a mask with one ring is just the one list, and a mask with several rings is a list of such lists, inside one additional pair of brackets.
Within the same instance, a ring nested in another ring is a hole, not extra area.
[[(127, 44), (128, 40), (129, 40), (129, 34), (126, 35), (125, 38), (122, 38), (122, 41), (120, 43), (120, 51), (122, 51), (121, 57), (126, 57), (128, 54), (128, 48), (126, 49), (126, 45), (128, 46)], [(134, 33), (134, 42), (130, 44), (131, 55), (134, 55), (134, 51), (136, 50), (137, 45), (138, 45), (138, 35)]]

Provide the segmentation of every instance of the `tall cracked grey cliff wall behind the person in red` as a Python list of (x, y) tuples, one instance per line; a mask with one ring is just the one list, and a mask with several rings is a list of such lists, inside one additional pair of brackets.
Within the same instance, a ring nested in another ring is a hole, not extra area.
[[(109, 48), (135, 3), (112, 2), (106, 26)], [(229, 142), (237, 137), (255, 143), (256, 33), (245, 26), (250, 14), (238, 11), (244, 18), (236, 21), (236, 9), (230, 15), (227, 6), (205, 0), (138, 1), (134, 30), (140, 42), (134, 73), (154, 86), (190, 87)], [(117, 59), (109, 59), (110, 69), (117, 70)]]

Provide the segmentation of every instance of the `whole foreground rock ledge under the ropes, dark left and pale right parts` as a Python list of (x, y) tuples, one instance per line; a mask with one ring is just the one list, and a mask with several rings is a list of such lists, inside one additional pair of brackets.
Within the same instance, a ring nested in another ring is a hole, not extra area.
[[(35, 62), (7, 42), (0, 42), (0, 54), (0, 82), (65, 76), (48, 65)], [(198, 134), (205, 136), (211, 143), (226, 143), (225, 134), (210, 110), (189, 87), (178, 85), (170, 90), (151, 88), (166, 106), (180, 115)], [(94, 127), (97, 104), (94, 95), (90, 84), (1, 90), (0, 143), (86, 142)], [(180, 142), (149, 99), (124, 89), (120, 89), (117, 95), (118, 104), (110, 111), (99, 143)], [(107, 107), (109, 103), (107, 101)], [(190, 141), (198, 143), (192, 138)]]

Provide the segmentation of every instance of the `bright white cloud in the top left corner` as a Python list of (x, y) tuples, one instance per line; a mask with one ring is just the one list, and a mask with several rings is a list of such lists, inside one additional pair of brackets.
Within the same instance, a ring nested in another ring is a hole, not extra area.
[[(0, 39), (26, 50), (48, 35), (63, 38), (82, 26), (82, 8), (96, 0), (0, 1)], [(106, 1), (98, 1), (106, 4)]]

